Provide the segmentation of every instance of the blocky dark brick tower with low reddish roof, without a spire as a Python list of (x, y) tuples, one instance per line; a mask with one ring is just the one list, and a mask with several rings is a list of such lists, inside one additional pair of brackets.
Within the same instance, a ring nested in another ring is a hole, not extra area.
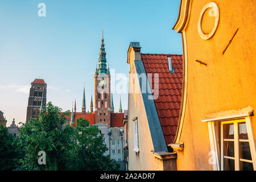
[(44, 109), (46, 107), (46, 93), (47, 84), (43, 79), (35, 79), (33, 82), (31, 82), (26, 123), (30, 120), (30, 118), (38, 119), (40, 109)]

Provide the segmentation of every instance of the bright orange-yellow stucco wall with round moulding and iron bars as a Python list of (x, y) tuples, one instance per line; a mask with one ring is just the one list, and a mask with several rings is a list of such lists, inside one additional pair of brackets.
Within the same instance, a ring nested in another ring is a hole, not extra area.
[[(256, 1), (216, 0), (220, 23), (212, 38), (203, 40), (197, 22), (203, 7), (210, 1), (193, 0), (184, 41), (187, 42), (187, 104), (177, 151), (177, 170), (212, 170), (206, 114), (252, 106), (256, 109)], [(208, 12), (207, 12), (208, 13)], [(205, 14), (206, 16), (207, 14)], [(212, 19), (203, 20), (203, 30), (210, 31)], [(224, 55), (230, 39), (236, 36)], [(184, 34), (183, 34), (184, 35)], [(207, 65), (200, 64), (203, 61)], [(252, 117), (256, 134), (256, 119)]]

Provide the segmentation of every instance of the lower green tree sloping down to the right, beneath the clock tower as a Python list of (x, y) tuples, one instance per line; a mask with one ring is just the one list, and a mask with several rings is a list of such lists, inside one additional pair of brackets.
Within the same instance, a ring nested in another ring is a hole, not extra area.
[(90, 125), (84, 118), (78, 118), (76, 122), (77, 170), (118, 170), (119, 164), (110, 159), (109, 155), (104, 155), (108, 148), (104, 143), (104, 134), (100, 134), (98, 126)]

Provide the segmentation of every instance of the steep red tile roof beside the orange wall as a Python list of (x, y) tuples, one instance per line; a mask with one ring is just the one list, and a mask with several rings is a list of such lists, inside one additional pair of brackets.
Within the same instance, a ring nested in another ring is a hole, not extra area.
[[(174, 68), (175, 73), (171, 73), (168, 68), (167, 56), (167, 54), (141, 53), (146, 73), (159, 73), (159, 97), (154, 102), (164, 139), (166, 144), (170, 144), (174, 142), (179, 121), (183, 81), (183, 56), (170, 55), (172, 68)], [(150, 85), (154, 85), (154, 78)]]

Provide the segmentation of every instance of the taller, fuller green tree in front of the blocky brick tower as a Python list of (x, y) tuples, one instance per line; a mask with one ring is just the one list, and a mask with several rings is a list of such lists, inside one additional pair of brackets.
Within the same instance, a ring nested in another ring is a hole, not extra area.
[[(72, 168), (72, 150), (76, 146), (75, 130), (64, 126), (69, 111), (61, 113), (59, 107), (49, 102), (39, 114), (22, 125), (19, 134), (20, 150), (25, 156), (20, 163), (23, 170), (68, 170)], [(39, 164), (39, 152), (46, 153), (46, 164)]]

